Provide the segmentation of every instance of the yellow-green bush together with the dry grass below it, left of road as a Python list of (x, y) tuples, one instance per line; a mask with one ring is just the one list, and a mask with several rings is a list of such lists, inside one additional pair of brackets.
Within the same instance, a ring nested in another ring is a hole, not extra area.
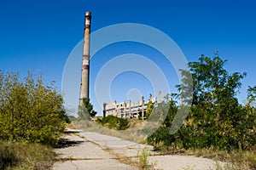
[(0, 169), (49, 169), (67, 122), (54, 82), (0, 71)]

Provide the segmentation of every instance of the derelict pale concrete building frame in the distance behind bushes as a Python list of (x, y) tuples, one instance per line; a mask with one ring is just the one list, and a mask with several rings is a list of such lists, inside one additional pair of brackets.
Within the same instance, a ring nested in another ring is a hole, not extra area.
[(144, 97), (142, 97), (141, 101), (138, 102), (131, 102), (131, 100), (128, 100), (127, 102), (123, 101), (116, 103), (116, 100), (114, 100), (108, 104), (104, 103), (103, 116), (113, 115), (122, 118), (138, 118), (140, 116), (144, 118), (149, 101), (155, 104), (156, 98), (152, 98), (152, 95), (150, 94), (150, 99), (148, 101), (144, 101)]

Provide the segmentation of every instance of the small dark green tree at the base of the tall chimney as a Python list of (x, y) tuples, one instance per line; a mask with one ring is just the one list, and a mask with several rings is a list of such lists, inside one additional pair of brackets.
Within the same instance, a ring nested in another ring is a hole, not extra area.
[(90, 117), (96, 116), (97, 112), (93, 110), (93, 105), (90, 104), (89, 98), (84, 98), (82, 105), (79, 105), (79, 119), (89, 120)]

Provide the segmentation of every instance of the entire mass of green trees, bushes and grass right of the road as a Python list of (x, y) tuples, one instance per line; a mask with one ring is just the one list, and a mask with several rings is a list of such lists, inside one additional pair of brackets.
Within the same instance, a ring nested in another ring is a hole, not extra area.
[(180, 88), (189, 87), (188, 74), (182, 71), (183, 84), (177, 86), (179, 94), (172, 94), (176, 100), (162, 104), (170, 106), (168, 115), (163, 125), (148, 137), (148, 144), (163, 153), (213, 156), (256, 169), (256, 86), (248, 87), (247, 101), (239, 104), (236, 94), (246, 73), (230, 74), (224, 69), (226, 64), (227, 60), (218, 53), (212, 58), (201, 55), (198, 61), (189, 63), (194, 85), (189, 116), (177, 133), (170, 133), (177, 110), (189, 103), (189, 88)]

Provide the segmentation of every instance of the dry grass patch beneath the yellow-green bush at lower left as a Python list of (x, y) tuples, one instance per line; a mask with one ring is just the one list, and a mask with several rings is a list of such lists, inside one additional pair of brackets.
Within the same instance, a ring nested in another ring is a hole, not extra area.
[(50, 169), (55, 152), (42, 144), (22, 144), (0, 141), (0, 169)]

